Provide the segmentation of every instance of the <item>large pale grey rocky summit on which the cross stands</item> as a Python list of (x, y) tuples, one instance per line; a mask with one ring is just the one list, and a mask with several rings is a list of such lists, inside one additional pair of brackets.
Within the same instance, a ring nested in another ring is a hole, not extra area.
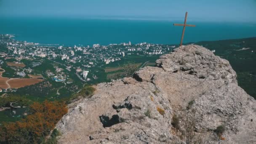
[(161, 56), (157, 67), (100, 83), (69, 105), (60, 144), (256, 144), (256, 100), (229, 61), (199, 45)]

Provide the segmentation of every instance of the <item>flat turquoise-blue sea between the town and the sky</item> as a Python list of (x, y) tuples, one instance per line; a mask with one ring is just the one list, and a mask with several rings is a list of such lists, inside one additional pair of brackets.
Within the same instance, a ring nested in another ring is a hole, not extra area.
[[(16, 34), (16, 40), (42, 44), (92, 45), (99, 43), (177, 44), (183, 21), (138, 21), (64, 18), (0, 18), (0, 34)], [(256, 37), (256, 24), (193, 22), (187, 27), (184, 42)]]

